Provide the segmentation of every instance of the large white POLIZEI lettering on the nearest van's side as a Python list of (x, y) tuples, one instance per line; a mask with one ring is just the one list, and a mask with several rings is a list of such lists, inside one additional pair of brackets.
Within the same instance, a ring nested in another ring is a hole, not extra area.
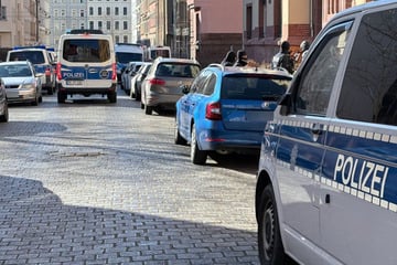
[(334, 180), (383, 198), (388, 167), (362, 159), (339, 155), (334, 169)]

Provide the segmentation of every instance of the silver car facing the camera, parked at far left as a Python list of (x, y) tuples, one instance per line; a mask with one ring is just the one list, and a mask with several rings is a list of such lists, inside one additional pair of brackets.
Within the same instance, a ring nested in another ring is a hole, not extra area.
[(43, 100), (41, 76), (29, 61), (0, 63), (7, 100), (9, 103), (30, 103), (37, 106)]

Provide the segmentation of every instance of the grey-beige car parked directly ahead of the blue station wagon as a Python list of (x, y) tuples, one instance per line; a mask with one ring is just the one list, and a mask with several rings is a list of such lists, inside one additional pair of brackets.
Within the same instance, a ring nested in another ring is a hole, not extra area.
[(200, 70), (195, 60), (155, 59), (141, 85), (141, 108), (147, 115), (152, 110), (174, 110), (176, 100), (183, 96), (181, 85), (190, 85)]

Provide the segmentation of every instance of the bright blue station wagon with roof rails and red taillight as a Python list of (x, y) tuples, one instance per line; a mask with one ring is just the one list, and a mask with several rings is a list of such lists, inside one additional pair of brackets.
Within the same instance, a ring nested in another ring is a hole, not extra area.
[(190, 144), (196, 165), (210, 151), (259, 153), (265, 125), (291, 78), (283, 71), (207, 66), (176, 102), (175, 144)]

